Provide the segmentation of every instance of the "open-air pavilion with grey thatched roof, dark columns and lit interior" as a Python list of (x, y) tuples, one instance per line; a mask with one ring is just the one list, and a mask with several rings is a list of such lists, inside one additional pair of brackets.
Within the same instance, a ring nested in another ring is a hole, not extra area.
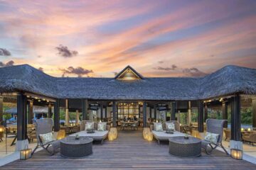
[(227, 66), (206, 77), (149, 78), (127, 66), (112, 78), (71, 78), (50, 77), (25, 64), (0, 68), (0, 77), (0, 122), (3, 102), (17, 105), (17, 150), (27, 143), (26, 125), (32, 123), (33, 106), (48, 107), (55, 132), (60, 130), (60, 108), (65, 108), (65, 125), (70, 123), (68, 113), (76, 112), (81, 120), (97, 118), (112, 127), (124, 117), (136, 118), (143, 128), (149, 118), (181, 120), (180, 113), (186, 113), (190, 124), (196, 109), (201, 133), (208, 108), (220, 106), (224, 120), (230, 110), (230, 148), (242, 149), (240, 108), (246, 102), (252, 106), (252, 128), (256, 128), (256, 69)]

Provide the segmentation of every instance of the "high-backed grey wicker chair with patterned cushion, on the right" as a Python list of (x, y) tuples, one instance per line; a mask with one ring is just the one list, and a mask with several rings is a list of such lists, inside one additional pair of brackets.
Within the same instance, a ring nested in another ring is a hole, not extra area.
[(213, 149), (216, 149), (217, 147), (221, 147), (226, 154), (228, 154), (227, 150), (225, 147), (222, 145), (222, 140), (223, 140), (223, 128), (227, 120), (218, 120), (218, 119), (207, 119), (206, 120), (206, 130), (207, 132), (215, 133), (218, 134), (218, 140), (216, 143), (207, 141), (207, 140), (202, 140), (202, 148), (206, 150), (206, 154), (210, 154), (213, 152)]

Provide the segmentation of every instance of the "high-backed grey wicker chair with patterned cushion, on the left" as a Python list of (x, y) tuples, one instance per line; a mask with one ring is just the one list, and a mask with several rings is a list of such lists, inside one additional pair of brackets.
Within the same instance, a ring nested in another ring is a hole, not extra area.
[[(53, 140), (52, 142), (48, 142), (46, 144), (43, 144), (40, 135), (53, 132), (53, 119), (46, 118), (46, 119), (38, 119), (36, 120), (36, 139), (38, 141), (36, 148), (33, 149), (32, 154), (36, 152), (36, 149), (39, 147), (42, 147), (46, 150), (49, 154), (53, 155), (55, 154), (56, 150), (60, 148), (60, 140)], [(49, 147), (52, 147), (51, 151)]]

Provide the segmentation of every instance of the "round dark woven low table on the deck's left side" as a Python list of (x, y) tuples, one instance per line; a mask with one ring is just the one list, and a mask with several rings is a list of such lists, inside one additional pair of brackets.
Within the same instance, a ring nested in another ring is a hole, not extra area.
[(87, 157), (92, 154), (92, 137), (80, 137), (75, 140), (75, 137), (65, 137), (60, 140), (60, 154), (63, 157)]

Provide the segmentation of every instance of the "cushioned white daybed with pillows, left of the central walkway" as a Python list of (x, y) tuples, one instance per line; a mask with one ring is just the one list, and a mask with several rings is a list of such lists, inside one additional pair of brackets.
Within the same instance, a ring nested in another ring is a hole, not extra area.
[(106, 125), (106, 130), (105, 131), (98, 131), (97, 130), (97, 123), (94, 123), (94, 133), (87, 133), (85, 131), (85, 124), (87, 122), (92, 122), (92, 121), (87, 121), (87, 120), (82, 120), (80, 124), (80, 132), (73, 133), (70, 136), (85, 136), (85, 137), (92, 137), (93, 141), (100, 141), (101, 144), (103, 144), (103, 141), (107, 138), (108, 132), (110, 131), (110, 125)]

